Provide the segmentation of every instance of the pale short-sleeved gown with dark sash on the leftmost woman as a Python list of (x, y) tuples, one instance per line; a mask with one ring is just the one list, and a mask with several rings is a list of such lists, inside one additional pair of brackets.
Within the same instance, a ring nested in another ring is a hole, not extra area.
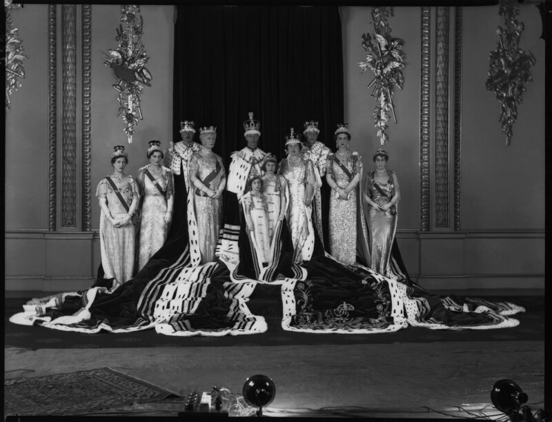
[[(130, 207), (132, 196), (138, 195), (138, 185), (132, 176), (128, 176), (127, 183), (119, 188), (127, 205)], [(111, 216), (117, 219), (118, 214), (126, 214), (127, 210), (121, 204), (117, 193), (111, 184), (104, 178), (98, 183), (96, 197), (105, 194)], [(99, 245), (101, 252), (101, 266), (103, 278), (115, 279), (112, 290), (119, 287), (134, 275), (135, 257), (135, 227), (132, 224), (114, 227), (101, 210), (99, 217)]]

